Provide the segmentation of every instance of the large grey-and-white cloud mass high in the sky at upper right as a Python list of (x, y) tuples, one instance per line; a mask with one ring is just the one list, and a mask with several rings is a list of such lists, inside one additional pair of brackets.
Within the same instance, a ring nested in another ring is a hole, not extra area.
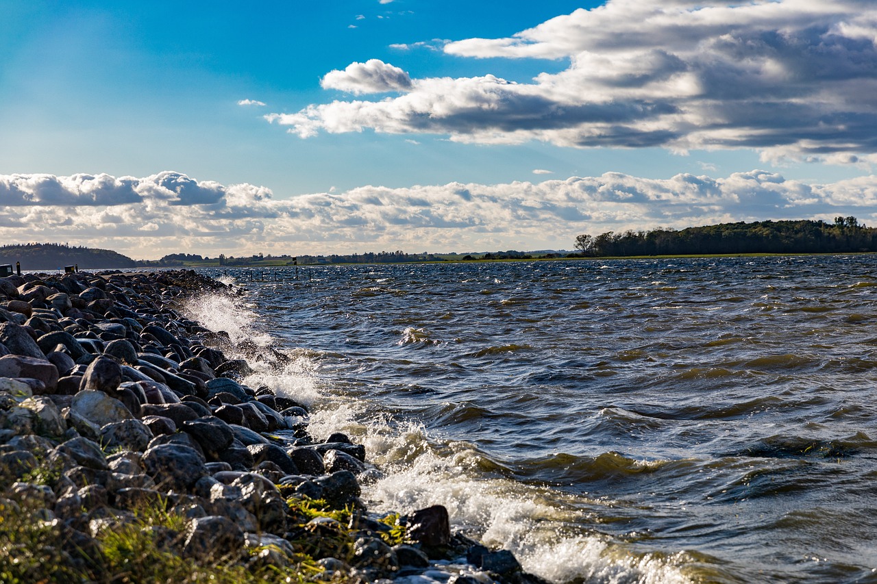
[(877, 4), (862, 0), (609, 0), (510, 38), (444, 44), (474, 59), (568, 61), (560, 73), (531, 82), (412, 79), (382, 61), (353, 63), (326, 75), (324, 87), (404, 95), (267, 119), (303, 137), (372, 129), (480, 143), (746, 147), (826, 160), (877, 153), (875, 43)]

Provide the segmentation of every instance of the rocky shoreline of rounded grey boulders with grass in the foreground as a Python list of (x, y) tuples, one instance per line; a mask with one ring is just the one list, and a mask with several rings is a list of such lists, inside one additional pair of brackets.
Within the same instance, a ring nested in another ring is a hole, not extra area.
[(363, 445), (185, 317), (194, 271), (0, 278), (0, 580), (540, 582), (446, 509), (369, 513)]

